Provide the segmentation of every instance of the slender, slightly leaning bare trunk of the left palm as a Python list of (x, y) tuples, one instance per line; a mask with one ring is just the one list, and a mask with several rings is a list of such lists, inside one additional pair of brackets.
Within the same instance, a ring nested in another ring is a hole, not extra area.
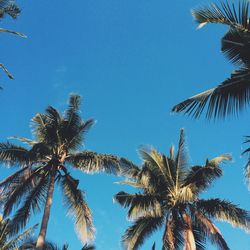
[(45, 208), (44, 208), (42, 225), (41, 225), (40, 233), (39, 233), (39, 236), (38, 236), (38, 239), (36, 242), (36, 249), (37, 250), (42, 250), (44, 247), (45, 236), (46, 236), (46, 231), (47, 231), (49, 216), (50, 216), (50, 209), (51, 209), (51, 205), (52, 205), (54, 185), (55, 185), (55, 172), (53, 171), (51, 174), (51, 177), (50, 177), (49, 190), (48, 190), (46, 204), (45, 204)]

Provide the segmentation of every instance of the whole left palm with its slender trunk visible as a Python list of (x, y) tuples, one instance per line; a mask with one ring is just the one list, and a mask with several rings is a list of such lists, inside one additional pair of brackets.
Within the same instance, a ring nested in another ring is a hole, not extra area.
[(79, 180), (69, 172), (70, 167), (85, 173), (117, 173), (120, 170), (116, 156), (78, 151), (86, 132), (94, 124), (93, 119), (81, 119), (79, 107), (80, 97), (71, 95), (64, 114), (49, 106), (45, 113), (35, 115), (32, 119), (34, 140), (14, 137), (27, 143), (30, 146), (28, 149), (10, 142), (0, 143), (0, 163), (21, 167), (0, 183), (4, 216), (19, 206), (13, 217), (18, 231), (26, 225), (31, 212), (44, 206), (37, 249), (42, 249), (45, 242), (55, 184), (61, 185), (79, 238), (83, 242), (93, 238), (91, 211), (84, 192), (78, 189)]

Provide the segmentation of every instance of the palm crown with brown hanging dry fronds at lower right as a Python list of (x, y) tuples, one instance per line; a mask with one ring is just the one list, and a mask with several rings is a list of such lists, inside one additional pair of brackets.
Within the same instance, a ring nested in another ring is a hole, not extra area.
[(155, 230), (164, 228), (164, 250), (205, 249), (206, 239), (228, 250), (213, 219), (227, 221), (235, 227), (249, 228), (249, 213), (229, 201), (201, 199), (199, 194), (222, 176), (219, 164), (231, 159), (222, 155), (206, 160), (204, 166), (188, 167), (184, 132), (181, 130), (178, 151), (170, 148), (169, 156), (155, 149), (141, 148), (141, 168), (128, 163), (127, 179), (120, 184), (138, 188), (140, 192), (119, 192), (114, 200), (128, 208), (128, 219), (133, 221), (123, 235), (127, 250), (138, 249)]

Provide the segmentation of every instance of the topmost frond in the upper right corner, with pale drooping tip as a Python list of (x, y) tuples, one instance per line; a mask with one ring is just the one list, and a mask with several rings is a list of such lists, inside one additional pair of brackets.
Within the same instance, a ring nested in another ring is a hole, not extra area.
[(193, 9), (192, 15), (200, 23), (199, 27), (206, 23), (221, 23), (249, 31), (249, 2), (247, 0), (239, 2), (239, 6), (228, 2), (221, 2), (221, 6), (213, 3)]

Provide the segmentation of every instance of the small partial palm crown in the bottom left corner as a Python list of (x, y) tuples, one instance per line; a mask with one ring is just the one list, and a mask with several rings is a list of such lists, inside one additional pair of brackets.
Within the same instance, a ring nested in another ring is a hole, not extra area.
[(25, 230), (22, 234), (13, 235), (13, 223), (10, 219), (0, 217), (0, 249), (12, 250), (19, 247), (31, 235), (37, 225)]

